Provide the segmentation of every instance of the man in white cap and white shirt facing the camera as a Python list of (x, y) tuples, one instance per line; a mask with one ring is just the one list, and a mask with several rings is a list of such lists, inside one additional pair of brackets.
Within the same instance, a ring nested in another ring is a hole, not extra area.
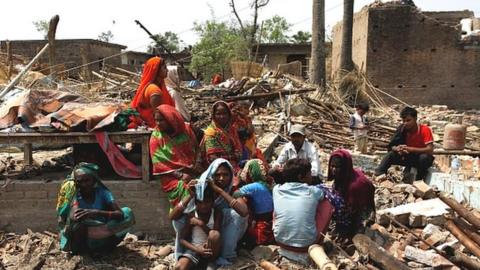
[(290, 142), (285, 144), (277, 160), (272, 163), (272, 171), (281, 171), (283, 165), (293, 158), (306, 159), (310, 162), (312, 177), (320, 177), (320, 160), (315, 146), (306, 140), (305, 126), (293, 125), (290, 128)]

